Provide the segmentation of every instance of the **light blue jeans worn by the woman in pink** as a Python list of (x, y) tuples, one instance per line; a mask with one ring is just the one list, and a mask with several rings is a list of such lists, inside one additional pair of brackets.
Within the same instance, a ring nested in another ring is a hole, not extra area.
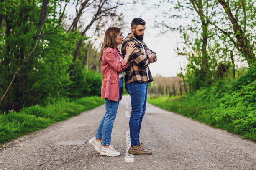
[(120, 91), (123, 87), (123, 78), (119, 79), (119, 98), (118, 102), (113, 100), (105, 99), (105, 107), (106, 112), (102, 120), (100, 121), (100, 125), (95, 134), (97, 139), (102, 139), (103, 146), (109, 146), (111, 142), (111, 133), (113, 128), (113, 123), (115, 121), (116, 112), (119, 105), (120, 100)]

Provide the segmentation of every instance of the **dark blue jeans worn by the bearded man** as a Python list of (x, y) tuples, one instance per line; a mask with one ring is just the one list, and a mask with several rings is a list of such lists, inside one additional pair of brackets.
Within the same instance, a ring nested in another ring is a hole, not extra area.
[(146, 112), (148, 95), (148, 83), (131, 82), (125, 85), (126, 91), (131, 96), (131, 117), (130, 117), (130, 137), (131, 146), (139, 145), (141, 122)]

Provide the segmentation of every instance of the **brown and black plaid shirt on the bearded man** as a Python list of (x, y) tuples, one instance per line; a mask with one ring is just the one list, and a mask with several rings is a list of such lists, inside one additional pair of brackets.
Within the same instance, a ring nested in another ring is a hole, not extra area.
[[(126, 54), (126, 47), (134, 42), (136, 45), (135, 50), (133, 50), (131, 57), (128, 60), (128, 68), (125, 69), (126, 75), (125, 75), (125, 85), (129, 84), (131, 82), (142, 82), (142, 83), (149, 83), (153, 81), (153, 77), (151, 75), (151, 72), (149, 70), (148, 65), (150, 64), (148, 60), (148, 56), (152, 56), (154, 61), (156, 62), (156, 52), (153, 52), (150, 50), (146, 44), (142, 41), (142, 44), (144, 46), (145, 52), (146, 50), (149, 50), (151, 52), (150, 55), (146, 55), (143, 52), (143, 47), (141, 46), (141, 43), (136, 40), (136, 38), (132, 37), (131, 34), (128, 34), (128, 36), (123, 41), (122, 45), (122, 55), (125, 56)], [(133, 60), (133, 62), (131, 62)], [(146, 72), (146, 67), (148, 67), (148, 76)], [(149, 78), (149, 80), (148, 80)]]

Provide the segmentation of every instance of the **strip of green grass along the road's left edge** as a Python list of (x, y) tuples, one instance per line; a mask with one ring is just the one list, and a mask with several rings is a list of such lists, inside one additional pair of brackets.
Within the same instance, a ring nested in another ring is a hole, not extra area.
[(2, 113), (0, 114), (0, 143), (67, 120), (104, 103), (104, 99), (96, 96), (83, 97), (71, 102), (65, 98), (48, 98), (45, 106), (35, 105), (25, 107), (19, 112)]

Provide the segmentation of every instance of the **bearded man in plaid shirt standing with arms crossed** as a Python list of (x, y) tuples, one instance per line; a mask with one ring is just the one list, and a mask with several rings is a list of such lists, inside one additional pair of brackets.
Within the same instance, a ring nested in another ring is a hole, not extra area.
[(140, 130), (143, 116), (146, 112), (146, 102), (148, 95), (148, 83), (153, 81), (153, 77), (148, 68), (152, 62), (156, 62), (156, 53), (150, 50), (143, 42), (146, 22), (141, 18), (134, 18), (131, 23), (131, 33), (125, 38), (122, 45), (122, 54), (125, 56), (125, 49), (130, 43), (135, 43), (128, 61), (128, 68), (125, 69), (125, 89), (131, 96), (131, 117), (130, 117), (130, 154), (150, 155), (151, 149), (143, 146), (140, 142)]

